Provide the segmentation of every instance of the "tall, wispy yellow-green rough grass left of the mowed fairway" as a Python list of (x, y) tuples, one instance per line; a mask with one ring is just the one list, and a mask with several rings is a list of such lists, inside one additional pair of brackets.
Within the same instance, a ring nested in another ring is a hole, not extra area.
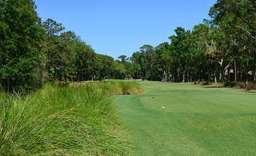
[(0, 93), (0, 155), (127, 155), (109, 96), (137, 94), (136, 82), (86, 82), (20, 97)]

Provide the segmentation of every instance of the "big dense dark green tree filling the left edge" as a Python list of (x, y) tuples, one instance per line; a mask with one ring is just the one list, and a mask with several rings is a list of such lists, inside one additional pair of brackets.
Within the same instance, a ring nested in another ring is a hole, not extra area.
[(8, 91), (40, 87), (44, 32), (34, 1), (9, 0), (0, 5), (0, 83)]

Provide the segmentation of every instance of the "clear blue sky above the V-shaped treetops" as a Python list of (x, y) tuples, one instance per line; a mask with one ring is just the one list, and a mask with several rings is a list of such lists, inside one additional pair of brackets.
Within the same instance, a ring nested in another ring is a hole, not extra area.
[(169, 41), (174, 29), (192, 29), (208, 18), (216, 0), (36, 0), (43, 20), (73, 30), (95, 52), (131, 56), (142, 45)]

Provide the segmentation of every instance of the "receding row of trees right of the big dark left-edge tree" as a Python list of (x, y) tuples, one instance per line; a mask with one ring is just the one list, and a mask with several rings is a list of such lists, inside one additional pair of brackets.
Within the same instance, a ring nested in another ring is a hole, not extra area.
[(52, 19), (43, 22), (46, 30), (46, 69), (50, 81), (85, 81), (124, 79), (127, 69), (107, 55), (99, 55), (72, 31), (61, 33), (61, 23)]

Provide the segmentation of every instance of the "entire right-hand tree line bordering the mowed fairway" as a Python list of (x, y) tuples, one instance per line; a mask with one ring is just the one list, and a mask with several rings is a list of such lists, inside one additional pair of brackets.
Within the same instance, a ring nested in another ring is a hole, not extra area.
[(164, 82), (256, 82), (256, 1), (218, 0), (209, 15), (193, 30), (176, 28), (169, 43), (143, 45), (129, 58), (129, 74)]

